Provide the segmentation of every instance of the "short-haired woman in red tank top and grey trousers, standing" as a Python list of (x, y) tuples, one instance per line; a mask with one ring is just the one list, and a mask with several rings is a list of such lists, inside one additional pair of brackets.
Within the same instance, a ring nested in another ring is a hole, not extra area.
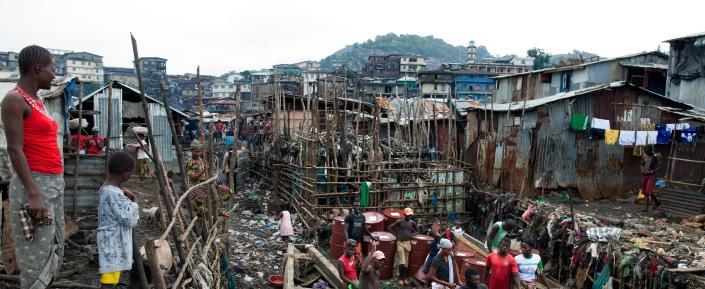
[[(17, 87), (0, 104), (14, 169), (9, 215), (20, 288), (46, 288), (61, 266), (64, 244), (64, 168), (58, 125), (38, 95), (39, 89), (51, 88), (55, 67), (51, 53), (36, 45), (20, 51), (18, 66)], [(33, 229), (23, 230), (26, 227)]]

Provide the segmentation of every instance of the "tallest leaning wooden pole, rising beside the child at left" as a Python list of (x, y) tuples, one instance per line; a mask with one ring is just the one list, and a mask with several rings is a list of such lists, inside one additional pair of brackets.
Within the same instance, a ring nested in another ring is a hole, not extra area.
[[(147, 136), (149, 138), (149, 143), (151, 144), (152, 148), (152, 156), (154, 157), (154, 166), (157, 169), (157, 181), (159, 183), (159, 189), (162, 192), (162, 197), (164, 198), (164, 204), (167, 210), (167, 213), (169, 213), (169, 216), (172, 218), (176, 218), (176, 214), (172, 208), (171, 202), (172, 197), (171, 196), (171, 189), (168, 187), (167, 179), (166, 179), (166, 172), (164, 169), (164, 165), (161, 161), (161, 157), (159, 155), (159, 149), (156, 146), (156, 142), (154, 141), (154, 133), (152, 130), (152, 123), (151, 120), (149, 119), (150, 113), (149, 113), (149, 106), (147, 105), (147, 97), (144, 95), (144, 83), (142, 82), (142, 70), (140, 67), (139, 63), (139, 53), (137, 52), (137, 40), (135, 39), (134, 36), (132, 36), (132, 33), (130, 33), (130, 37), (132, 38), (132, 52), (134, 54), (135, 58), (135, 72), (137, 73), (137, 81), (139, 83), (139, 90), (140, 90), (140, 96), (142, 97), (142, 110), (144, 111), (144, 120), (147, 126)], [(159, 198), (157, 198), (159, 199)], [(166, 228), (166, 219), (164, 217), (164, 214), (162, 214), (161, 217), (162, 221), (162, 227)], [(172, 231), (172, 237), (174, 238), (174, 243), (176, 245), (176, 251), (179, 255), (179, 262), (183, 262), (184, 260), (184, 248), (181, 246), (181, 241), (179, 241), (179, 235), (180, 232)], [(183, 265), (183, 264), (181, 264)]]

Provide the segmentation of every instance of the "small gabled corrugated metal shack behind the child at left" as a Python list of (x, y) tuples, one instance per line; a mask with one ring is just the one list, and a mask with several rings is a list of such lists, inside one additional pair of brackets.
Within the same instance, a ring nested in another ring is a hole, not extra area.
[[(111, 84), (112, 94), (109, 93)], [(148, 95), (145, 95), (145, 97), (149, 105), (149, 119), (153, 126), (154, 139), (159, 148), (164, 166), (168, 170), (178, 172), (176, 150), (173, 145), (171, 128), (164, 104), (154, 97)], [(108, 121), (109, 98), (112, 102), (110, 122)], [(73, 107), (77, 109), (78, 105), (79, 103), (76, 101)], [(119, 81), (112, 81), (112, 83), (108, 83), (84, 97), (83, 109), (96, 111), (96, 113), (92, 114), (92, 117), (87, 118), (88, 128), (99, 127), (101, 136), (107, 137), (107, 126), (110, 123), (111, 149), (123, 149), (125, 144), (136, 143), (134, 138), (131, 138), (129, 134), (125, 134), (126, 130), (130, 124), (145, 125), (139, 90)], [(171, 108), (170, 113), (174, 117), (174, 125), (177, 126), (177, 130), (180, 129), (181, 120), (188, 119), (188, 115), (174, 108)]]

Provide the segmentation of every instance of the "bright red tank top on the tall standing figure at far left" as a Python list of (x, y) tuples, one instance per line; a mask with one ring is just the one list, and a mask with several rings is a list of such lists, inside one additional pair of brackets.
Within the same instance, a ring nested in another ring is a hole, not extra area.
[(44, 101), (30, 97), (20, 87), (12, 91), (21, 94), (32, 107), (32, 113), (22, 121), (24, 127), (24, 152), (29, 170), (38, 173), (60, 175), (64, 173), (64, 163), (57, 143), (59, 125), (51, 118), (44, 107)]

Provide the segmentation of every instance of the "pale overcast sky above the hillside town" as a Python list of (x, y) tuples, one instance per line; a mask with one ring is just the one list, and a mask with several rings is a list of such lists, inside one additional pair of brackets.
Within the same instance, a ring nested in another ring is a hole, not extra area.
[(705, 31), (705, 1), (57, 1), (4, 0), (0, 51), (30, 44), (102, 55), (131, 67), (130, 32), (140, 56), (167, 58), (167, 73), (204, 74), (320, 60), (375, 35), (475, 40), (492, 54), (580, 49), (614, 57), (655, 50), (661, 41)]

